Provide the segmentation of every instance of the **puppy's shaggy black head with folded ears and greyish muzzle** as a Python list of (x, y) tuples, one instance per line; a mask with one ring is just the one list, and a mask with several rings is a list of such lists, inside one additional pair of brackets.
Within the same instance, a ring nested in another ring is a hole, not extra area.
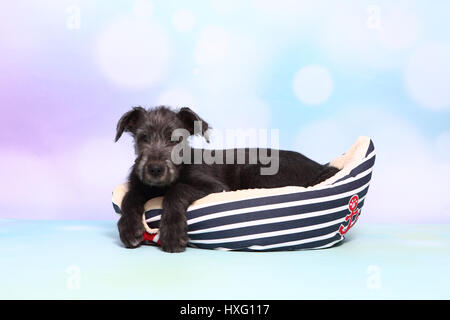
[(197, 133), (194, 132), (196, 121), (201, 122), (199, 134), (205, 136), (208, 123), (189, 108), (173, 111), (164, 106), (149, 110), (134, 107), (120, 118), (115, 141), (124, 131), (131, 133), (136, 153), (133, 170), (144, 184), (162, 187), (178, 178), (181, 166), (174, 163), (172, 150), (183, 138), (173, 139), (172, 133), (185, 129), (193, 135)]

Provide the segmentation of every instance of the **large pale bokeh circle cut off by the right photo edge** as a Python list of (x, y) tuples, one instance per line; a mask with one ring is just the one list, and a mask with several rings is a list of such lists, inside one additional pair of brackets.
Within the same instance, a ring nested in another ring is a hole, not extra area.
[(443, 110), (450, 107), (450, 45), (430, 44), (415, 50), (405, 67), (405, 86), (421, 106)]

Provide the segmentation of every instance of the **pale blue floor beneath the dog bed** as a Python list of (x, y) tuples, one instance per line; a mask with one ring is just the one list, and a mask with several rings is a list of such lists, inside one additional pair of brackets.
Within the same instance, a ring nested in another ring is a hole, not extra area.
[(1, 299), (449, 299), (450, 225), (357, 224), (340, 246), (121, 247), (114, 221), (0, 220)]

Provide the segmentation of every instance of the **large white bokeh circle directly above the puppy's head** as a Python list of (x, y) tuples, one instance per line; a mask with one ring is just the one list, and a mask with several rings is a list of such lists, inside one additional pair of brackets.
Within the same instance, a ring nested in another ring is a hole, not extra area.
[(142, 88), (154, 85), (164, 76), (170, 50), (159, 26), (125, 18), (101, 33), (96, 55), (108, 79), (120, 86)]

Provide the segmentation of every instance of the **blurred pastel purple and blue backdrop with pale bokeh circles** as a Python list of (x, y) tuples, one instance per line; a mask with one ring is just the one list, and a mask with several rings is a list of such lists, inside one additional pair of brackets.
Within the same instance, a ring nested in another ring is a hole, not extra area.
[(377, 163), (362, 223), (450, 222), (450, 2), (3, 1), (0, 218), (116, 219), (131, 106)]

